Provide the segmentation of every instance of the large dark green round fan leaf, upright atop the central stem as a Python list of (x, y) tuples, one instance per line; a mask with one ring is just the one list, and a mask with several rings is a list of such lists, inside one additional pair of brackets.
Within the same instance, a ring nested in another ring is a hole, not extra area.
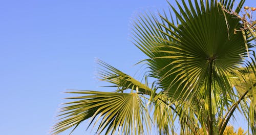
[[(206, 9), (195, 10), (190, 7), (197, 14), (186, 11), (188, 7), (185, 4), (183, 4), (184, 8), (178, 2), (177, 5), (181, 15), (174, 7), (172, 9), (181, 23), (179, 31), (175, 31), (178, 32), (180, 41), (178, 43), (169, 41), (171, 45), (163, 44), (163, 46), (174, 46), (175, 48), (169, 47), (172, 48), (172, 51), (163, 48), (161, 52), (165, 52), (166, 55), (157, 57), (173, 59), (169, 67), (164, 67), (169, 69), (165, 76), (176, 76), (174, 80), (169, 80), (169, 86), (179, 84), (176, 88), (182, 89), (181, 92), (184, 93), (190, 91), (187, 89), (188, 85), (192, 85), (194, 91), (201, 89), (198, 84), (209, 76), (209, 62), (212, 60), (214, 64), (213, 77), (218, 83), (225, 85), (226, 88), (223, 87), (223, 91), (232, 93), (225, 72), (237, 68), (243, 62), (242, 58), (246, 53), (242, 33), (233, 34), (233, 30), (240, 26), (239, 19), (228, 14), (224, 16), (216, 1), (211, 1), (211, 8), (207, 8), (207, 4)], [(163, 19), (167, 24), (172, 24), (168, 19)], [(226, 27), (226, 21), (229, 29)], [(174, 25), (172, 28), (177, 29)], [(170, 33), (174, 32), (173, 29), (168, 29), (168, 32), (164, 34), (169, 36)], [(184, 85), (180, 85), (182, 82)], [(170, 96), (173, 95), (173, 89), (166, 90)]]

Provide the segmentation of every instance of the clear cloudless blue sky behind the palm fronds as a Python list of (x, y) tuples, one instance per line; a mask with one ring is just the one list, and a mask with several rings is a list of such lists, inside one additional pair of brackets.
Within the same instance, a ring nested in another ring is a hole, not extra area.
[[(134, 75), (145, 56), (129, 41), (132, 18), (166, 7), (165, 0), (0, 1), (1, 134), (47, 134), (66, 89), (107, 91), (97, 87), (95, 58)], [(88, 134), (86, 125), (73, 134)]]

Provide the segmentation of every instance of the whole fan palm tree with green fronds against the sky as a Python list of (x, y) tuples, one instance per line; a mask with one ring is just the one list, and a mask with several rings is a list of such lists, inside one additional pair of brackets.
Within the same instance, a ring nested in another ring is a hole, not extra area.
[(147, 65), (144, 80), (99, 61), (101, 80), (116, 91), (68, 92), (79, 96), (68, 98), (52, 134), (87, 119), (88, 127), (98, 123), (97, 134), (145, 134), (152, 125), (175, 134), (175, 122), (181, 134), (223, 134), (235, 111), (256, 134), (256, 36), (238, 16), (244, 2), (181, 0), (178, 9), (168, 3), (169, 13), (141, 15), (133, 38), (148, 56), (139, 62)]

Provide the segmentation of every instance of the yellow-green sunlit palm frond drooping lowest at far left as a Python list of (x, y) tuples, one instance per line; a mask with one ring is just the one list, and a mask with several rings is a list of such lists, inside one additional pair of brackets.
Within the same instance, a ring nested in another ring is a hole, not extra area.
[[(99, 122), (97, 133), (105, 130), (105, 134), (119, 132), (121, 134), (143, 134), (148, 130), (148, 114), (144, 103), (136, 93), (105, 93), (94, 91), (68, 92), (79, 94), (77, 101), (66, 103), (60, 111), (61, 117), (53, 128), (53, 134), (64, 131), (91, 118)], [(90, 125), (91, 125), (90, 124)], [(89, 125), (89, 126), (90, 126)], [(146, 126), (146, 128), (144, 128)]]

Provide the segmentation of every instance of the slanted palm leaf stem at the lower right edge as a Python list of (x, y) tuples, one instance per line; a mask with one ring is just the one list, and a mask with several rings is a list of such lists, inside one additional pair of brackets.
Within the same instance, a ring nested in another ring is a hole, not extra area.
[[(253, 84), (253, 87), (256, 86), (256, 83)], [(219, 134), (223, 134), (227, 123), (229, 121), (229, 119), (231, 118), (231, 116), (234, 113), (234, 110), (236, 110), (236, 108), (238, 107), (238, 105), (240, 104), (240, 102), (244, 99), (244, 97), (248, 94), (248, 92), (253, 88), (252, 86), (239, 98), (239, 100), (236, 103), (233, 103), (232, 106), (230, 107), (230, 109), (228, 110), (228, 112), (226, 113), (224, 119), (221, 122), (221, 128), (219, 128)]]

